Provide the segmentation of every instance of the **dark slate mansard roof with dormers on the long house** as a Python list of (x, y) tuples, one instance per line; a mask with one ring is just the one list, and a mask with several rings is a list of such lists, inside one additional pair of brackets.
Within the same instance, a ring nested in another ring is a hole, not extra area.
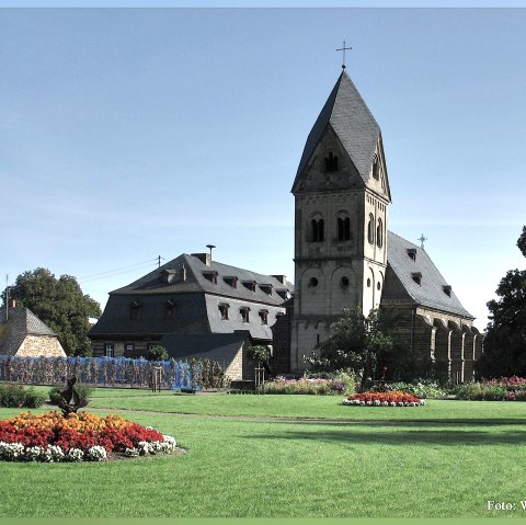
[[(161, 336), (168, 333), (233, 332), (249, 329), (252, 338), (272, 339), (271, 326), (287, 296), (276, 290), (291, 290), (293, 285), (271, 275), (211, 261), (205, 254), (182, 254), (134, 283), (110, 293), (104, 312), (91, 328), (90, 338)], [(181, 278), (183, 272), (185, 278)], [(214, 279), (210, 279), (214, 277)], [(237, 278), (232, 287), (229, 277)], [(171, 279), (171, 281), (170, 281)], [(243, 282), (255, 283), (249, 289)], [(216, 283), (216, 284), (215, 284)], [(270, 285), (271, 287), (265, 287)], [(137, 319), (130, 319), (130, 304), (140, 306)], [(164, 315), (167, 301), (173, 304), (173, 316)], [(230, 305), (229, 320), (221, 320), (219, 303)], [(250, 308), (250, 322), (243, 322), (240, 307)], [(259, 310), (268, 310), (268, 324), (263, 324)]]

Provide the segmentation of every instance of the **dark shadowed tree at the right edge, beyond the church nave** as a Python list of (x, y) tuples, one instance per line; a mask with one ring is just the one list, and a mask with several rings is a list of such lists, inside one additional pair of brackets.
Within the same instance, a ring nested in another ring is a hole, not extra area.
[[(526, 226), (517, 240), (526, 258)], [(526, 375), (526, 270), (510, 270), (488, 303), (490, 322), (484, 351), (476, 363), (479, 377)]]

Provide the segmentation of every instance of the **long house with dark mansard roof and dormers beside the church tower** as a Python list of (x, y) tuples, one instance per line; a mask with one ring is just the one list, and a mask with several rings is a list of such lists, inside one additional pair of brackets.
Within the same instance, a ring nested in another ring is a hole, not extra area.
[(111, 292), (88, 335), (95, 356), (146, 356), (162, 344), (171, 356), (215, 356), (240, 380), (248, 342), (272, 349), (291, 290), (284, 275), (222, 264), (210, 253), (182, 254)]

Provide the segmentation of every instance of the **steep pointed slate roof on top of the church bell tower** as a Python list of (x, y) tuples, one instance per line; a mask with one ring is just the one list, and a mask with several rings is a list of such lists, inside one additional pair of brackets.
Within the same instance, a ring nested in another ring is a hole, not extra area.
[(329, 125), (336, 133), (362, 180), (367, 182), (376, 144), (380, 137), (380, 127), (344, 70), (310, 130), (293, 189)]

